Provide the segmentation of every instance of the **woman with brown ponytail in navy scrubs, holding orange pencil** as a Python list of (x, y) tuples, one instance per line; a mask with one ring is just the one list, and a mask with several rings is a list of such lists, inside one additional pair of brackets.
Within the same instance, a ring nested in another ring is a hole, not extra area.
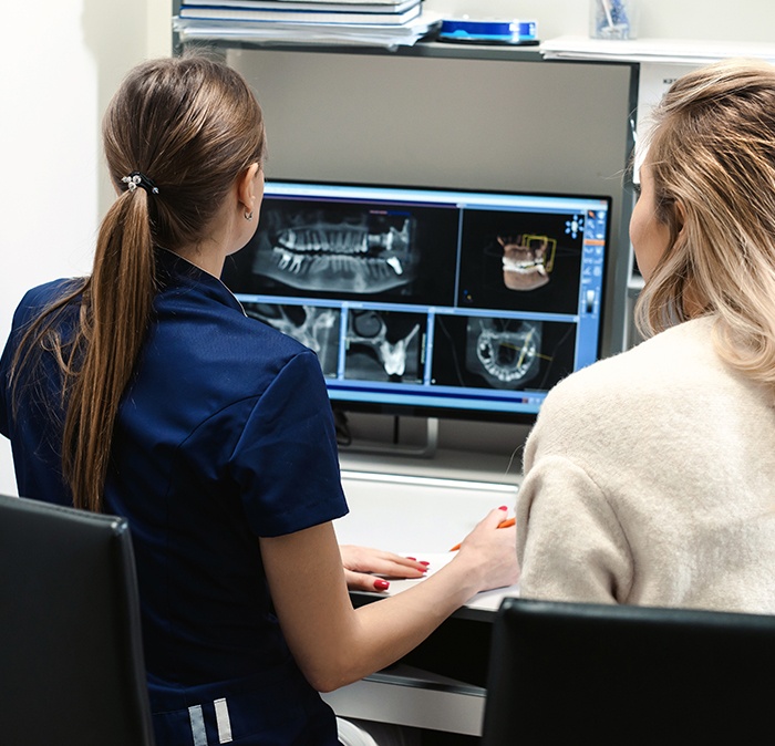
[(0, 361), (19, 491), (128, 519), (158, 746), (331, 746), (316, 690), (389, 665), (476, 592), (516, 582), (514, 529), (492, 511), (445, 568), (353, 610), (320, 365), (218, 279), (258, 222), (254, 94), (220, 62), (147, 62), (103, 139), (117, 197), (93, 271), (28, 292)]

